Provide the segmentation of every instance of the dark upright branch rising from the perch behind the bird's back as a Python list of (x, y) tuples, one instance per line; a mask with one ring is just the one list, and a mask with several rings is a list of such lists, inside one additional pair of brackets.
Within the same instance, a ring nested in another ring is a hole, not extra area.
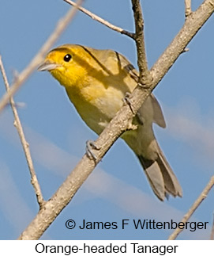
[(145, 53), (144, 19), (139, 0), (132, 0), (133, 16), (135, 21), (134, 40), (137, 46), (137, 65), (139, 67), (139, 82), (141, 86), (150, 86), (152, 76), (148, 71)]

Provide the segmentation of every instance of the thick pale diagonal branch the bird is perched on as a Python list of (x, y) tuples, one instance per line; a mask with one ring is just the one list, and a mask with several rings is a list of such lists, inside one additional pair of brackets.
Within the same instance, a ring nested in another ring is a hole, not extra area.
[(186, 18), (185, 25), (178, 32), (178, 36), (175, 37), (175, 40), (171, 42), (170, 46), (152, 67), (153, 80), (150, 88), (148, 90), (141, 90), (137, 86), (133, 90), (133, 94), (130, 96), (132, 97), (133, 112), (130, 106), (124, 105), (96, 140), (96, 146), (100, 148), (99, 151), (96, 151), (96, 162), (93, 159), (88, 159), (84, 155), (58, 191), (54, 193), (53, 197), (45, 204), (45, 207), (32, 220), (32, 223), (23, 231), (19, 239), (39, 239), (43, 235), (43, 232), (51, 225), (62, 209), (69, 204), (69, 201), (71, 201), (77, 190), (81, 187), (85, 179), (88, 178), (88, 175), (92, 173), (94, 167), (103, 158), (111, 145), (118, 139), (118, 136), (129, 128), (133, 115), (137, 113), (137, 109), (141, 107), (146, 97), (148, 97), (160, 82), (172, 64), (175, 63), (175, 60), (178, 59), (178, 56), (186, 48), (186, 45), (190, 43), (190, 40), (192, 40), (193, 36), (195, 36), (213, 12), (214, 0), (205, 0), (201, 4), (201, 7), (195, 13), (192, 13), (191, 18)]

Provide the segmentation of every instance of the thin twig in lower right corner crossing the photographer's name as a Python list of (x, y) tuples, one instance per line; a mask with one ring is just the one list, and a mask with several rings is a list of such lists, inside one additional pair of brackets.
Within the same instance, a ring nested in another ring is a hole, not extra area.
[[(190, 217), (193, 215), (193, 212), (198, 208), (198, 206), (202, 203), (202, 201), (205, 200), (207, 197), (210, 189), (212, 189), (214, 185), (214, 176), (208, 181), (208, 185), (205, 186), (205, 189), (201, 192), (200, 196), (197, 197), (197, 200), (193, 203), (193, 205), (190, 207), (190, 210), (186, 212), (186, 215), (183, 216), (181, 222), (186, 224), (186, 222), (190, 219)], [(180, 229), (177, 227), (175, 231), (169, 236), (168, 240), (175, 240), (176, 237), (182, 232), (183, 229)]]

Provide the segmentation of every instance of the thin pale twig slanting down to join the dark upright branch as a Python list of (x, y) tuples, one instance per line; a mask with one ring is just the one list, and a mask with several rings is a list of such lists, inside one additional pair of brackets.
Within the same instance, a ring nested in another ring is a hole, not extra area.
[(73, 1), (71, 1), (71, 0), (63, 0), (63, 1), (67, 2), (71, 6), (77, 7), (78, 10), (80, 10), (83, 13), (85, 13), (86, 15), (91, 17), (93, 20), (96, 20), (99, 23), (101, 23), (103, 25), (106, 25), (109, 29), (113, 29), (113, 30), (115, 30), (117, 32), (120, 32), (123, 35), (130, 36), (131, 38), (133, 38), (134, 35), (133, 35), (132, 32), (126, 31), (124, 29), (119, 28), (118, 26), (112, 25), (110, 22), (104, 20), (102, 17), (97, 16), (96, 14), (90, 12), (89, 10), (87, 10), (87, 9), (81, 7), (81, 6), (77, 6), (77, 4), (75, 2), (73, 2)]

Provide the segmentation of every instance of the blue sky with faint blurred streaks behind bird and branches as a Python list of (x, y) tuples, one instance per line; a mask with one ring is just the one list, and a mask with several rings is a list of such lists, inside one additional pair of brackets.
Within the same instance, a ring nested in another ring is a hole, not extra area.
[[(133, 31), (131, 1), (88, 0), (84, 7), (115, 25)], [(202, 1), (193, 1), (193, 10)], [(148, 65), (170, 44), (184, 22), (183, 1), (142, 1)], [(9, 82), (21, 72), (54, 30), (69, 5), (58, 1), (2, 1), (0, 54)], [(167, 239), (171, 231), (67, 230), (66, 220), (118, 222), (122, 219), (181, 220), (214, 170), (213, 17), (191, 41), (154, 90), (167, 128), (154, 126), (156, 137), (182, 188), (182, 198), (160, 202), (153, 195), (136, 157), (121, 139), (114, 144), (73, 201), (42, 239)], [(107, 29), (78, 12), (57, 44), (111, 48), (137, 67), (133, 40)], [(0, 76), (0, 95), (5, 89)], [(96, 139), (70, 104), (65, 90), (51, 75), (35, 71), (15, 96), (30, 143), (39, 183), (46, 200), (58, 189), (84, 155), (85, 141)], [(13, 127), (11, 109), (0, 113), (0, 239), (16, 239), (38, 211), (28, 167)], [(191, 221), (208, 221), (207, 230), (184, 231), (179, 239), (208, 239), (212, 224), (213, 190)]]

